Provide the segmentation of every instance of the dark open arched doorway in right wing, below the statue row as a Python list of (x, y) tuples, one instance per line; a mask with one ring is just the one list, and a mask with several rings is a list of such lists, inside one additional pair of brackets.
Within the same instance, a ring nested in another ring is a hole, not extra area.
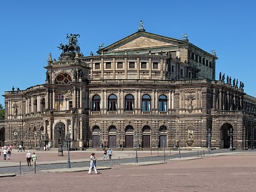
[[(221, 126), (221, 148), (230, 148), (230, 133), (232, 133), (233, 127), (229, 123), (225, 123)], [(232, 138), (231, 138), (232, 139)], [(233, 141), (231, 140), (231, 143)]]

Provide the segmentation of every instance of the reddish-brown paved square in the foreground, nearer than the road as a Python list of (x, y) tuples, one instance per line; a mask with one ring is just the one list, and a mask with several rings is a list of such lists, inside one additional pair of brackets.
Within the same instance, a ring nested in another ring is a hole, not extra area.
[[(39, 153), (38, 153), (39, 154)], [(2, 191), (255, 191), (256, 153), (119, 166), (101, 174), (41, 172), (0, 178)]]

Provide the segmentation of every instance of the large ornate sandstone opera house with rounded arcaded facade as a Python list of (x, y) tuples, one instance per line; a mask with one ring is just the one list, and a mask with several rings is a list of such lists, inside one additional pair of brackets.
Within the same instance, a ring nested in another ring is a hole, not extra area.
[(183, 37), (141, 23), (98, 55), (62, 44), (44, 84), (5, 91), (5, 145), (57, 148), (70, 131), (71, 148), (255, 148), (256, 98)]

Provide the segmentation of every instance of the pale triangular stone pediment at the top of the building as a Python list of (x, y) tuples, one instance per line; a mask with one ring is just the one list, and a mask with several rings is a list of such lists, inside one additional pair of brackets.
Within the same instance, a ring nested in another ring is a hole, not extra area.
[(156, 47), (175, 46), (180, 44), (187, 44), (188, 42), (182, 40), (176, 40), (174, 38), (164, 37), (161, 35), (155, 35), (144, 31), (138, 31), (132, 35), (129, 35), (122, 40), (116, 41), (116, 43), (102, 48), (100, 52), (119, 52), (129, 50), (140, 49), (152, 49)]

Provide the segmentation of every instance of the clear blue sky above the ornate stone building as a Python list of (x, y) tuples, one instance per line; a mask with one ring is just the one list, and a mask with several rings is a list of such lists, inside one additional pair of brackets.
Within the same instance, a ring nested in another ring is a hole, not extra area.
[(256, 1), (1, 1), (1, 85), (25, 90), (44, 84), (48, 55), (57, 59), (66, 34), (80, 34), (84, 55), (138, 30), (182, 38), (207, 52), (216, 51), (219, 71), (244, 82), (244, 92), (256, 97)]

